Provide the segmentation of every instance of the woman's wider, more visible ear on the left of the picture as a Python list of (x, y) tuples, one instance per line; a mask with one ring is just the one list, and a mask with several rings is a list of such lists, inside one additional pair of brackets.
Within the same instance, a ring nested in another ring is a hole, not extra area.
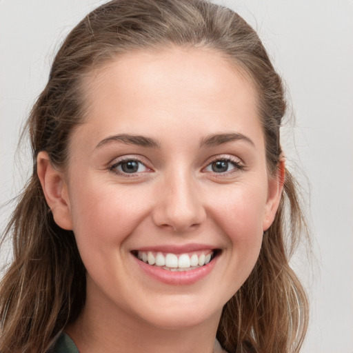
[(38, 154), (37, 174), (55, 223), (65, 230), (72, 230), (68, 186), (63, 173), (53, 167), (47, 152)]

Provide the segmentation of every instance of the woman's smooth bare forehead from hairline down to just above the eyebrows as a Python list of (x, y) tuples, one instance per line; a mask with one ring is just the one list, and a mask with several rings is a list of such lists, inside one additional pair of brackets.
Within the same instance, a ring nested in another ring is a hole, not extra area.
[(116, 129), (144, 134), (174, 124), (176, 132), (190, 128), (201, 135), (219, 129), (244, 133), (250, 125), (260, 126), (254, 85), (213, 50), (123, 54), (89, 72), (81, 87), (85, 123), (96, 134), (98, 125), (105, 134)]

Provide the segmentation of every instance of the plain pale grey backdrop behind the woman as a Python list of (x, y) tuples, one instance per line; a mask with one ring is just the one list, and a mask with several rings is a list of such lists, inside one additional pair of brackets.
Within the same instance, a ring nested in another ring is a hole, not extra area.
[[(102, 2), (0, 1), (0, 204), (30, 172), (28, 145), (15, 159), (19, 132), (59, 44)], [(296, 116), (282, 143), (314, 236), (313, 254), (293, 260), (312, 303), (303, 353), (353, 353), (353, 1), (218, 2), (259, 32)], [(9, 214), (0, 208), (0, 230)], [(8, 259), (3, 250), (0, 265)]]

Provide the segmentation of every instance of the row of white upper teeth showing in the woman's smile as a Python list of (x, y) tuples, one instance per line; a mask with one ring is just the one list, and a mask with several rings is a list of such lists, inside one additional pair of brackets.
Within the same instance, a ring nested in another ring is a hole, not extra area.
[(139, 251), (137, 257), (149, 265), (162, 268), (195, 268), (211, 261), (213, 252), (199, 252), (198, 254), (163, 254), (162, 252)]

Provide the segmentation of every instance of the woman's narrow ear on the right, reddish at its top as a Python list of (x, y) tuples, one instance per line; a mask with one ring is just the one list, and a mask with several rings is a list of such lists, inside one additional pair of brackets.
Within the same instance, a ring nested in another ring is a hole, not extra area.
[(263, 231), (268, 230), (274, 221), (274, 216), (279, 208), (279, 202), (283, 192), (285, 181), (285, 158), (281, 157), (276, 170), (276, 175), (268, 181), (268, 200), (265, 205), (265, 216), (263, 219)]

